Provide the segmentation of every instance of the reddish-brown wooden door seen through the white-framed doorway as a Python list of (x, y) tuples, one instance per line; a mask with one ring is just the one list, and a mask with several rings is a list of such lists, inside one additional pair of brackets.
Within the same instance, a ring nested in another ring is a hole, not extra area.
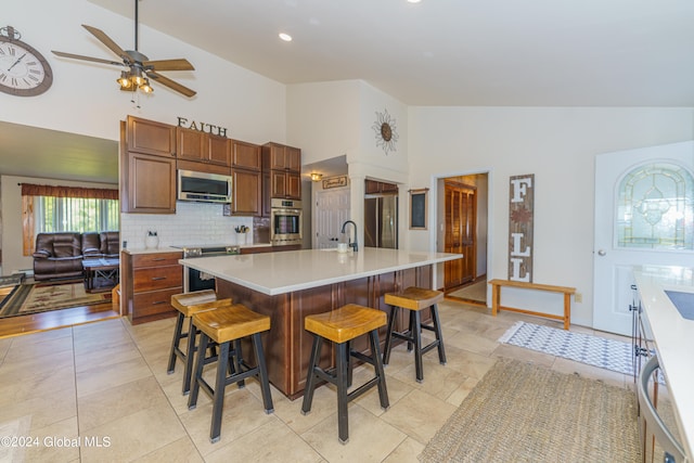
[(444, 250), (462, 254), (462, 259), (445, 263), (446, 290), (475, 279), (477, 230), (477, 189), (463, 183), (446, 181), (446, 234)]

